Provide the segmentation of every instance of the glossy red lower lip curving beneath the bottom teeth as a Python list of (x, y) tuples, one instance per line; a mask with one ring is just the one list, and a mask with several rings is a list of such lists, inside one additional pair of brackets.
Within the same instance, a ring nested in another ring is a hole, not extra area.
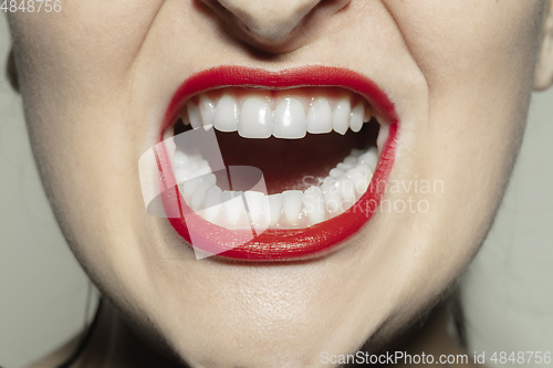
[[(396, 150), (397, 124), (389, 127), (389, 137), (380, 155), (378, 166), (367, 191), (344, 213), (305, 229), (281, 230), (269, 229), (252, 240), (242, 243), (250, 233), (228, 230), (212, 224), (196, 213), (186, 204), (178, 191), (171, 165), (164, 145), (158, 149), (159, 162), (168, 190), (163, 192), (163, 202), (167, 212), (190, 213), (185, 218), (170, 218), (175, 230), (190, 244), (190, 231), (204, 234), (201, 242), (196, 241), (195, 248), (217, 257), (250, 261), (279, 262), (289, 260), (305, 260), (327, 254), (338, 249), (347, 238), (355, 234), (375, 213), (385, 191)], [(174, 209), (170, 210), (169, 209)]]

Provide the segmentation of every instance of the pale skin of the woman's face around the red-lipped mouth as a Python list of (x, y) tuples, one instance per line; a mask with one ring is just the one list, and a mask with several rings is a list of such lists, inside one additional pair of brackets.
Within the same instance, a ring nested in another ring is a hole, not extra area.
[[(541, 0), (88, 0), (10, 24), (39, 170), (104, 295), (191, 366), (311, 367), (322, 351), (399, 330), (477, 252), (521, 143), (534, 66), (536, 85), (551, 81), (549, 59), (538, 60), (547, 10)], [(377, 212), (325, 257), (196, 261), (145, 211), (137, 162), (182, 81), (221, 63), (367, 75), (401, 117), (390, 180), (439, 180), (444, 191), (388, 191), (429, 210)]]

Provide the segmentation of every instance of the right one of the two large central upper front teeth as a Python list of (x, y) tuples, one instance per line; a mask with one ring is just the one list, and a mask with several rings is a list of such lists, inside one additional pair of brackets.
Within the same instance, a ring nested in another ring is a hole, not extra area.
[(282, 99), (274, 109), (273, 135), (276, 138), (299, 139), (306, 134), (303, 104), (292, 97)]

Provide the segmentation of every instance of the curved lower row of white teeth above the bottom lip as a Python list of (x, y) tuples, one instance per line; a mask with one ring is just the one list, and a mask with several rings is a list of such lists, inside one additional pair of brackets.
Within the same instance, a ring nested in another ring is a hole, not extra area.
[(223, 191), (209, 162), (178, 148), (174, 172), (186, 203), (205, 220), (232, 230), (253, 227), (299, 229), (330, 220), (348, 210), (367, 190), (378, 161), (375, 147), (354, 149), (328, 176), (305, 191), (285, 190), (267, 196), (259, 191)]

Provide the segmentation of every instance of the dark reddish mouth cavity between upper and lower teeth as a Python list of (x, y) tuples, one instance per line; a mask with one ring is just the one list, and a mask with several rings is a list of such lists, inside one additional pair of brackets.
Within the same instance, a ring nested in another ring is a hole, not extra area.
[[(358, 133), (345, 135), (309, 134), (301, 139), (242, 138), (237, 132), (216, 130), (226, 166), (252, 166), (263, 172), (269, 194), (284, 190), (305, 190), (328, 176), (331, 169), (342, 162), (352, 149), (376, 147), (378, 123), (365, 123)], [(191, 129), (178, 120), (175, 135)]]

